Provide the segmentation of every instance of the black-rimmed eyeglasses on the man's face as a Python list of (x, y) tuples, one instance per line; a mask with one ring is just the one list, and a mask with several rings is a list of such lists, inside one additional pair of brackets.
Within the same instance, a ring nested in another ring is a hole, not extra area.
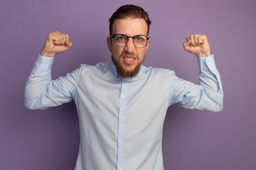
[(134, 45), (138, 48), (145, 47), (148, 42), (148, 39), (150, 38), (150, 36), (146, 35), (135, 35), (131, 37), (124, 34), (112, 34), (110, 35), (110, 37), (114, 39), (115, 45), (120, 47), (125, 46), (128, 42), (128, 39), (132, 38)]

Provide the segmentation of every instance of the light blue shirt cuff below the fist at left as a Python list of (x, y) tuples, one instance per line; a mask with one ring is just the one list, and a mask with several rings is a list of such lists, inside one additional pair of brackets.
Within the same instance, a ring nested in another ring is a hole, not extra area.
[(54, 57), (44, 57), (41, 56), (40, 53), (35, 62), (35, 67), (38, 70), (49, 70), (52, 68)]

